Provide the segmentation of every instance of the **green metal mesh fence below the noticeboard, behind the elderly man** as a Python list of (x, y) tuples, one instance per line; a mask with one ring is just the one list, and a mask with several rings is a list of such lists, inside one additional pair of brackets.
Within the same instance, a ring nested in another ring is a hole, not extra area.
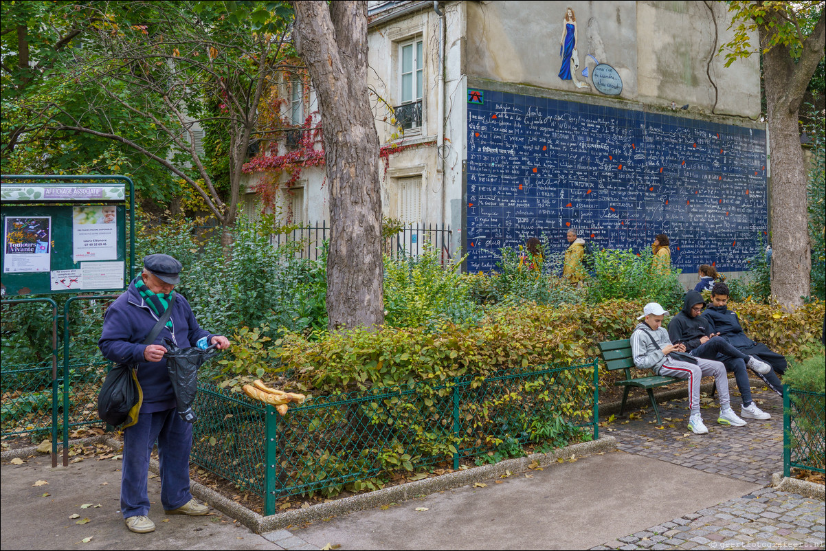
[[(97, 336), (114, 298), (71, 297), (64, 302), (63, 316), (50, 298), (2, 302), (2, 438), (50, 439), (56, 466), (61, 440), (64, 464), (68, 462), (71, 430), (104, 425), (97, 416), (97, 392), (111, 363), (97, 349)], [(21, 362), (31, 358), (41, 360)]]

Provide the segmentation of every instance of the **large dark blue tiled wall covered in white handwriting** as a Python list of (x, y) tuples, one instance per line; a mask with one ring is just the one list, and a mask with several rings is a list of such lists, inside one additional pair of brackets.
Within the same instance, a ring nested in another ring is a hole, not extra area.
[(766, 240), (766, 132), (544, 97), (482, 91), (468, 102), (468, 271), (503, 247), (567, 229), (597, 247), (671, 240), (672, 264), (747, 269)]

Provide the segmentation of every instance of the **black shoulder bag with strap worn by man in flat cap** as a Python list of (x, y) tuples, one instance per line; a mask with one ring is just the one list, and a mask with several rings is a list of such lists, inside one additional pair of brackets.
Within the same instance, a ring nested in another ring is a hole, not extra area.
[[(143, 344), (152, 344), (160, 330), (169, 321), (176, 296), (172, 296), (169, 307), (158, 318)], [(126, 429), (138, 422), (138, 413), (143, 401), (144, 393), (140, 390), (138, 383), (138, 366), (130, 363), (116, 363), (107, 373), (101, 392), (97, 395), (97, 415), (109, 425), (123, 425), (121, 428)]]

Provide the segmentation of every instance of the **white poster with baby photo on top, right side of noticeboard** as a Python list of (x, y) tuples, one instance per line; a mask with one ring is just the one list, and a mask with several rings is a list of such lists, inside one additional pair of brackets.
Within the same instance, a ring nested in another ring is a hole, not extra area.
[(117, 259), (117, 207), (72, 208), (72, 258)]

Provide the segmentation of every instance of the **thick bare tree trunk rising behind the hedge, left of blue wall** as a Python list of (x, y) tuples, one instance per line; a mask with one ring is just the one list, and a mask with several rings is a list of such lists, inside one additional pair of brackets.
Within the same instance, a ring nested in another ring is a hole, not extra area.
[(330, 189), (330, 330), (384, 322), (378, 135), (367, 88), (367, 2), (294, 1), (296, 50), (316, 89)]

